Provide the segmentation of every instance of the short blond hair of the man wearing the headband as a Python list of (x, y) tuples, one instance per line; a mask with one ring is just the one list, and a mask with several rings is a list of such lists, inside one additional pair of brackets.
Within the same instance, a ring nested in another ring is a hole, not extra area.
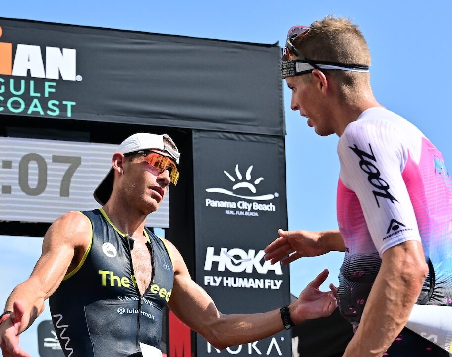
[[(370, 52), (367, 42), (357, 25), (346, 18), (325, 16), (309, 26), (309, 31), (295, 38), (293, 45), (303, 56), (312, 61), (370, 66)], [(296, 60), (291, 57), (291, 60)], [(358, 88), (370, 89), (369, 73), (322, 69), (334, 76), (345, 96)]]

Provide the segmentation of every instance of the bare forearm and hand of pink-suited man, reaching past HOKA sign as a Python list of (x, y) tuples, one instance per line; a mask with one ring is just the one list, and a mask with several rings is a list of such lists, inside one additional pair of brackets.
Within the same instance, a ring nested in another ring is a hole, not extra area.
[(330, 251), (345, 251), (345, 244), (339, 231), (313, 232), (279, 229), (278, 233), (280, 237), (264, 249), (266, 253), (264, 259), (271, 260), (272, 264), (278, 261), (281, 261), (281, 264), (289, 264), (301, 257), (319, 256)]

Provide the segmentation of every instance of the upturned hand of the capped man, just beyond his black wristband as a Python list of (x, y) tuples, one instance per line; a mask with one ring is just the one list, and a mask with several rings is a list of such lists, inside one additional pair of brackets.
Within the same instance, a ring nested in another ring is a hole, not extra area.
[(329, 316), (336, 309), (338, 303), (333, 293), (319, 290), (320, 285), (327, 277), (328, 270), (325, 269), (304, 288), (298, 300), (290, 305), (290, 317), (295, 324), (304, 320)]

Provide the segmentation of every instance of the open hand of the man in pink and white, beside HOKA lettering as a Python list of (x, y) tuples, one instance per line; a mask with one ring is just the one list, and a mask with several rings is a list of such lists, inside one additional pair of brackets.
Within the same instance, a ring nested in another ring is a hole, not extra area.
[[(282, 260), (281, 264), (288, 264), (301, 257), (328, 253), (320, 241), (320, 232), (279, 229), (278, 233), (281, 237), (276, 238), (264, 249), (266, 253), (264, 259), (271, 259), (272, 264), (280, 260)], [(289, 254), (292, 255), (287, 257)]]

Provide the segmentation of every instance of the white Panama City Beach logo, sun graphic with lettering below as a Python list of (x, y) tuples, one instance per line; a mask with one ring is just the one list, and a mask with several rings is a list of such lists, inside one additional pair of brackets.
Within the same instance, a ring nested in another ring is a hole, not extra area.
[(206, 192), (209, 193), (221, 193), (231, 197), (242, 198), (244, 200), (236, 202), (206, 198), (206, 207), (225, 208), (225, 214), (238, 216), (259, 217), (260, 211), (275, 212), (276, 206), (273, 203), (266, 203), (262, 201), (269, 201), (275, 197), (278, 197), (278, 193), (275, 192), (273, 194), (270, 193), (264, 195), (257, 194), (256, 187), (264, 180), (264, 178), (259, 177), (257, 179), (252, 179), (252, 170), (253, 165), (248, 167), (245, 172), (245, 177), (243, 177), (240, 172), (238, 164), (235, 165), (235, 177), (224, 170), (223, 172), (232, 182), (231, 191), (221, 187), (206, 188)]

